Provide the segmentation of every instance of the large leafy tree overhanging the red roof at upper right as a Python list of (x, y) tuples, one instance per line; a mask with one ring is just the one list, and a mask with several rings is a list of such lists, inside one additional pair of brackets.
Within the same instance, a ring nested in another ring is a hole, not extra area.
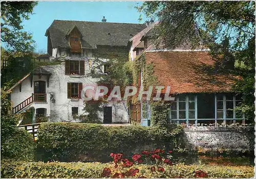
[[(160, 21), (152, 32), (157, 48), (173, 49), (186, 42), (192, 48), (202, 43), (207, 44), (211, 55), (225, 62), (220, 64), (222, 69), (241, 75), (243, 80), (239, 80), (233, 87), (235, 92), (243, 95), (243, 104), (238, 110), (253, 119), (254, 6), (253, 1), (156, 1), (144, 2), (136, 8), (147, 17)], [(231, 63), (231, 68), (230, 63), (226, 62)]]

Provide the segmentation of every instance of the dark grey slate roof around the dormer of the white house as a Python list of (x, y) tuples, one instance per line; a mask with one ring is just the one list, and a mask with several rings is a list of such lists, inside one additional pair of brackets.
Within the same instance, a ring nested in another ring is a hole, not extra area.
[(54, 20), (47, 29), (52, 47), (70, 47), (66, 35), (77, 26), (83, 37), (83, 48), (96, 48), (96, 45), (126, 46), (129, 39), (146, 28), (145, 24), (91, 22), (74, 20)]

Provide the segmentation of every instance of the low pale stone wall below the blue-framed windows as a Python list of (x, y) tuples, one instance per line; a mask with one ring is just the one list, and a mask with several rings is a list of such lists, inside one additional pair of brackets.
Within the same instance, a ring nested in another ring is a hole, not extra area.
[(194, 152), (254, 151), (254, 127), (252, 126), (185, 127), (184, 136), (189, 150)]

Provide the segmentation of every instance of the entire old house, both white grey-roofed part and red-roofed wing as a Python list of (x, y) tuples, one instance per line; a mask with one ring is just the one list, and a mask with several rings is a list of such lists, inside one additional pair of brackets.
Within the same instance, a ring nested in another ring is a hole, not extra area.
[[(145, 62), (138, 72), (138, 89), (143, 87), (148, 65), (153, 67), (153, 85), (170, 86), (170, 94), (175, 97), (169, 104), (170, 122), (244, 122), (244, 115), (234, 110), (241, 97), (231, 93), (231, 86), (239, 77), (219, 73), (218, 60), (204, 47), (191, 49), (184, 44), (172, 50), (156, 49), (151, 31), (157, 23), (110, 23), (105, 18), (102, 22), (54, 20), (46, 31), (48, 55), (37, 58), (49, 65), (35, 69), (10, 89), (13, 113), (34, 107), (36, 114), (49, 116), (50, 121), (79, 122), (74, 116), (87, 114), (83, 110), (82, 88), (97, 83), (92, 75), (95, 71), (108, 72), (109, 54), (121, 54), (131, 61)], [(166, 88), (162, 93), (165, 91)], [(131, 107), (125, 101), (109, 103), (98, 116), (103, 123), (128, 123), (132, 118), (148, 126), (150, 106), (144, 100)]]

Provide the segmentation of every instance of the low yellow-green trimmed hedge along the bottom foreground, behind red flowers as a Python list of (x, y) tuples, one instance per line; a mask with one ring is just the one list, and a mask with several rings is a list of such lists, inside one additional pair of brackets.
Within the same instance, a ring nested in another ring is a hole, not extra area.
[[(195, 178), (197, 171), (202, 170), (208, 178), (250, 178), (254, 176), (252, 166), (196, 166), (182, 165), (174, 166), (161, 165), (164, 172), (152, 171), (150, 165), (134, 165), (131, 168), (138, 168), (136, 176), (143, 175), (150, 178)], [(61, 162), (11, 162), (2, 161), (1, 177), (5, 178), (101, 178), (102, 171), (108, 167), (115, 172), (127, 171), (130, 168), (115, 169), (113, 163), (61, 163)], [(157, 168), (158, 166), (155, 165)]]

